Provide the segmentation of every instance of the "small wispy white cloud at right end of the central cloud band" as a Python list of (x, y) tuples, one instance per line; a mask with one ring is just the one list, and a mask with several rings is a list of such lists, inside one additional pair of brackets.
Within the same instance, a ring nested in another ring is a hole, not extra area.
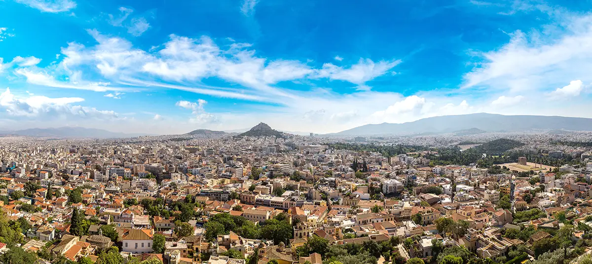
[(357, 64), (349, 68), (335, 66), (332, 63), (323, 64), (323, 68), (317, 70), (318, 77), (329, 78), (331, 80), (343, 80), (353, 84), (363, 86), (364, 83), (378, 76), (387, 73), (392, 67), (401, 63), (400, 60), (379, 61), (374, 63), (369, 58), (360, 58)]

